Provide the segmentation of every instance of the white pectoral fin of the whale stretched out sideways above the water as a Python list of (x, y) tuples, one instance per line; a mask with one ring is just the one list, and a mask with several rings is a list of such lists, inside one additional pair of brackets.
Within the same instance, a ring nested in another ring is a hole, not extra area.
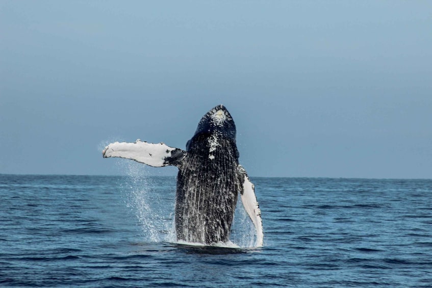
[(147, 143), (137, 140), (134, 143), (115, 142), (105, 147), (104, 158), (119, 157), (131, 159), (153, 167), (180, 166), (186, 151), (172, 148), (164, 143)]

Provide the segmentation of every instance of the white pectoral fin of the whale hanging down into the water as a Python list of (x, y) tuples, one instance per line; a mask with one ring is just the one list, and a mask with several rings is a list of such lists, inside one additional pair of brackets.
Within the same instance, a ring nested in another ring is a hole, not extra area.
[(255, 225), (255, 229), (257, 231), (257, 247), (263, 246), (263, 220), (261, 219), (261, 210), (260, 205), (257, 201), (257, 196), (255, 196), (255, 186), (250, 182), (249, 177), (247, 176), (246, 170), (239, 165), (240, 173), (244, 177), (243, 182), (243, 190), (241, 195), (243, 206), (249, 215), (250, 219)]

